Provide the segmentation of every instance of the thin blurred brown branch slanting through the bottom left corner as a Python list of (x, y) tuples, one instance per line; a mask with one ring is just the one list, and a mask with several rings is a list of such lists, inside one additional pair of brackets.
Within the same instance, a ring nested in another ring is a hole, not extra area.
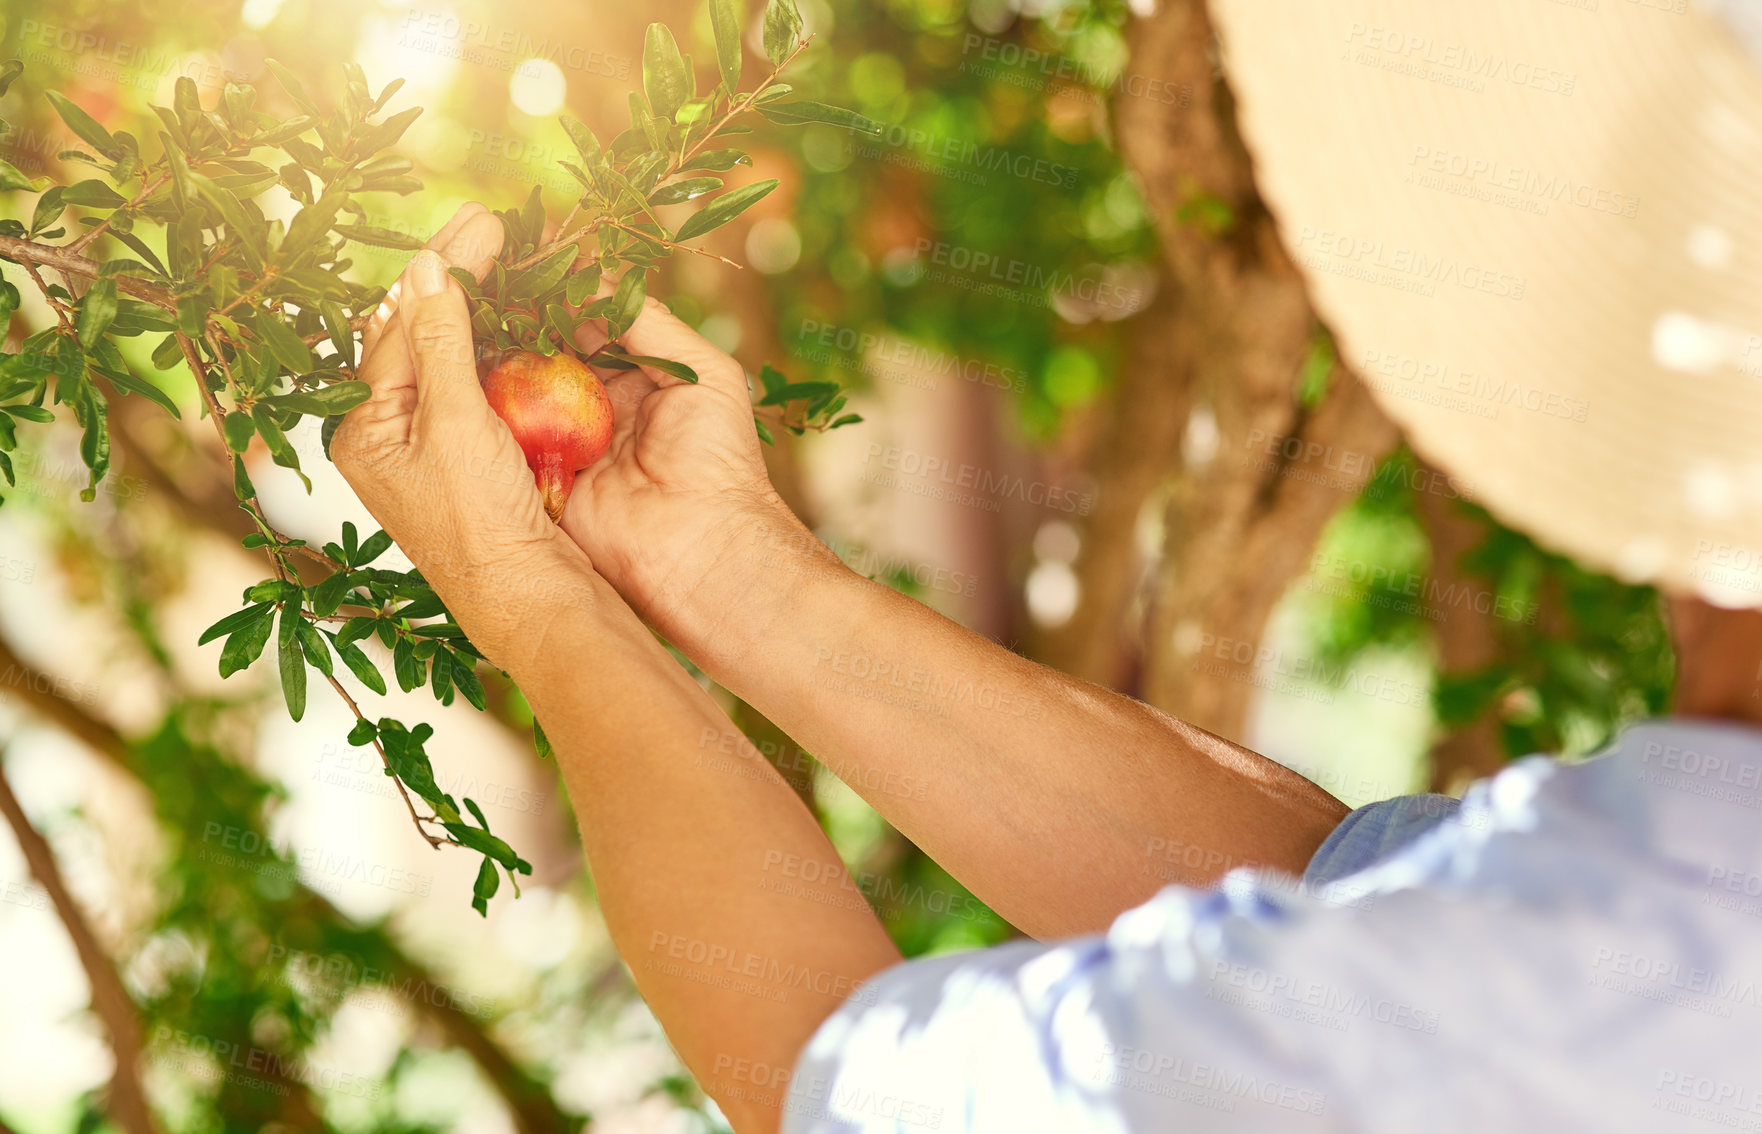
[(86, 981), (92, 984), (92, 1011), (99, 1014), (104, 1030), (109, 1032), (116, 1071), (111, 1072), (106, 1111), (127, 1134), (159, 1134), (159, 1123), (146, 1104), (146, 1090), (141, 1086), (141, 1021), (136, 1016), (134, 1000), (123, 988), (122, 977), (116, 976), (116, 967), (104, 946), (99, 944), (79, 903), (67, 891), (49, 842), (30, 824), (18, 796), (12, 794), (4, 761), (0, 761), (0, 815), (5, 815), (19, 850), (25, 852), (30, 875), (48, 891), (56, 917), (67, 928), (74, 953), (79, 954), (79, 965), (86, 970)]

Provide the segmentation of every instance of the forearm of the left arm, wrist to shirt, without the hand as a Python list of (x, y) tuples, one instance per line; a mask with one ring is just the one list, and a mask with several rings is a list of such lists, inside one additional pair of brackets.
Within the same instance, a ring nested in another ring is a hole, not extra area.
[(774, 768), (705, 766), (698, 741), (728, 717), (611, 588), (574, 571), (544, 590), (557, 600), (513, 676), (557, 752), (613, 942), (735, 1127), (775, 1129), (777, 1076), (899, 953), (837, 877), (777, 889), (779, 861), (837, 854)]

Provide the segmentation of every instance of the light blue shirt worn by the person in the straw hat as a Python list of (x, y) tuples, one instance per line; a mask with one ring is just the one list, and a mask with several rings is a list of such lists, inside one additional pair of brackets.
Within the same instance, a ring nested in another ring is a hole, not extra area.
[(1461, 803), (1353, 812), (1299, 882), (897, 965), (786, 1134), (1762, 1130), (1762, 733), (1660, 720)]

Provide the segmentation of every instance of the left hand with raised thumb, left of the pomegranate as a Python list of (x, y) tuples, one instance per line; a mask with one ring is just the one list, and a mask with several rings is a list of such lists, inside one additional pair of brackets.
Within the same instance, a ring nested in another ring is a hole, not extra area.
[(546, 519), (478, 382), (448, 268), (481, 278), (500, 247), (502, 222), (474, 202), (411, 257), (363, 336), (358, 373), (374, 393), (337, 430), (331, 460), (472, 641), (511, 667), (541, 637), (536, 613), (589, 593), (590, 565)]

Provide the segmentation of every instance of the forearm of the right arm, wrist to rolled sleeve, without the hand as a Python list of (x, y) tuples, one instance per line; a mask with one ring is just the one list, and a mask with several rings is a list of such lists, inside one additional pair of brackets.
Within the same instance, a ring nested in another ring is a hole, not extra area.
[(670, 599), (677, 646), (1036, 935), (1099, 930), (1232, 866), (1300, 873), (1346, 814), (1272, 761), (856, 576), (793, 518), (745, 518)]

